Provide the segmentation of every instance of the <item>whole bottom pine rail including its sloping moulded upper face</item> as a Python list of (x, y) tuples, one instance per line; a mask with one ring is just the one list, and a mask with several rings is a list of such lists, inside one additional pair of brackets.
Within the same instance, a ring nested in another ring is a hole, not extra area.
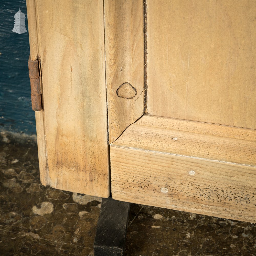
[(110, 146), (112, 197), (255, 222), (255, 137), (252, 129), (144, 115)]

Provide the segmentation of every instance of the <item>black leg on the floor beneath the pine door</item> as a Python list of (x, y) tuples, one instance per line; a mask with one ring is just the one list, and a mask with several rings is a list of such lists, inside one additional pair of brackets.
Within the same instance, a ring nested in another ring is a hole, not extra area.
[(130, 203), (103, 198), (94, 239), (94, 256), (123, 256)]

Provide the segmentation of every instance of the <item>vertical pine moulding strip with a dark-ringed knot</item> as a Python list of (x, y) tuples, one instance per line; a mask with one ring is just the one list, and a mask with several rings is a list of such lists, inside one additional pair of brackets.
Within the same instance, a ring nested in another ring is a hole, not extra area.
[[(104, 1), (109, 143), (143, 114), (143, 1)], [(130, 83), (136, 90), (124, 87)], [(132, 93), (132, 94), (131, 94)], [(129, 97), (131, 95), (131, 97)]]

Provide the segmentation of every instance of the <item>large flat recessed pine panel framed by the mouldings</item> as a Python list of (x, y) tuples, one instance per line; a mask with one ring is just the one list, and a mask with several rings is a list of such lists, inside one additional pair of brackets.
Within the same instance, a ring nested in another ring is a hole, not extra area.
[(256, 129), (255, 1), (147, 1), (148, 113)]

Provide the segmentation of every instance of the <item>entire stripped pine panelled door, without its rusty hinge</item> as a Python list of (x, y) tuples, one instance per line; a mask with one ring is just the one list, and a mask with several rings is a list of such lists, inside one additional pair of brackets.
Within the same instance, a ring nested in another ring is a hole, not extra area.
[(43, 185), (255, 222), (254, 1), (27, 7)]

